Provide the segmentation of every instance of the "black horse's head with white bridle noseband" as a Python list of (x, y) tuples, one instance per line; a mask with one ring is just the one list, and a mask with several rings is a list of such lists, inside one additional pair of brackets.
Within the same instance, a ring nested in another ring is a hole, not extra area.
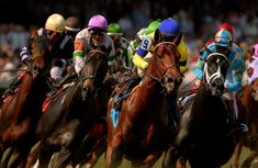
[(211, 90), (212, 96), (221, 96), (224, 92), (224, 82), (229, 67), (229, 63), (226, 54), (224, 53), (211, 53), (206, 48), (207, 58), (204, 64), (204, 83)]

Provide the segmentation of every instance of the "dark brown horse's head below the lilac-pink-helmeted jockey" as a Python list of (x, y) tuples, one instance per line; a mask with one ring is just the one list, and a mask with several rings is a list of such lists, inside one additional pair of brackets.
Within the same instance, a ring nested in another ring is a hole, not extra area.
[(108, 56), (101, 49), (92, 49), (88, 53), (85, 66), (81, 69), (83, 92), (92, 93), (103, 83), (108, 71)]

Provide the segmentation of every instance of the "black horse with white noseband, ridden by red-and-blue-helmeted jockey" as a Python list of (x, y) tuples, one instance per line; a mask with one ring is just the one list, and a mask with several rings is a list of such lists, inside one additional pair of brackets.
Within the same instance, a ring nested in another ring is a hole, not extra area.
[[(231, 158), (235, 146), (232, 114), (224, 98), (224, 79), (228, 69), (226, 52), (209, 48), (203, 79), (197, 93), (179, 105), (179, 130), (166, 150), (164, 168), (176, 167), (177, 160), (189, 160), (191, 168), (217, 168)], [(183, 163), (183, 161), (182, 161)]]

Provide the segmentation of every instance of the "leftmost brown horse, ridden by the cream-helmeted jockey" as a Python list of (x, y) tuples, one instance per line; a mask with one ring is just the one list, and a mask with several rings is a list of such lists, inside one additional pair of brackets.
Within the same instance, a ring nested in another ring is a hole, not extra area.
[[(48, 71), (51, 45), (45, 36), (37, 37), (32, 45), (31, 66), (22, 72), (22, 81), (13, 96), (9, 96), (0, 113), (1, 154), (9, 147), (18, 155), (9, 167), (23, 167), (31, 147), (36, 142), (35, 127), (41, 117), (41, 107), (51, 90)], [(12, 153), (3, 159), (5, 167)], [(1, 155), (2, 156), (2, 155)]]

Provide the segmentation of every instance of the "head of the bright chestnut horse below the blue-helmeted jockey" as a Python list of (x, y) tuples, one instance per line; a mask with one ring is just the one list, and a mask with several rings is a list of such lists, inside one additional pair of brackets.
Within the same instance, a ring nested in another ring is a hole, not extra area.
[(180, 38), (157, 44), (149, 60), (150, 66), (146, 71), (146, 75), (158, 81), (168, 94), (177, 90), (183, 77), (179, 70), (180, 54), (177, 51), (178, 41)]

